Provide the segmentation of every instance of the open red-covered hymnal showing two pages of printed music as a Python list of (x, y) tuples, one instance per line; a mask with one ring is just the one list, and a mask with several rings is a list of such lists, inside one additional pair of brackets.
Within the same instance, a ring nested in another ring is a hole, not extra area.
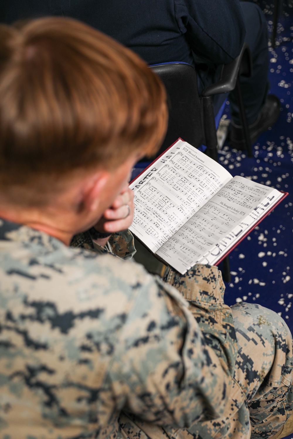
[(286, 193), (243, 177), (178, 139), (130, 183), (131, 232), (159, 259), (184, 274), (216, 265)]

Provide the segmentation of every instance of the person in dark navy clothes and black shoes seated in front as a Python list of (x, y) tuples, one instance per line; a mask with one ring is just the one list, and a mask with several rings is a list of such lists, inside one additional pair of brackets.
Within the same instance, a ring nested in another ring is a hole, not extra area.
[[(1, 10), (2, 8), (2, 10)], [(221, 65), (235, 59), (244, 41), (253, 58), (253, 75), (241, 78), (250, 136), (254, 142), (279, 117), (279, 99), (268, 95), (267, 23), (260, 8), (239, 0), (2, 0), (0, 20), (45, 15), (81, 20), (134, 50), (149, 65), (184, 61), (198, 73), (199, 93), (217, 81)], [(244, 146), (234, 93), (231, 140)], [(224, 97), (215, 97), (215, 113)]]

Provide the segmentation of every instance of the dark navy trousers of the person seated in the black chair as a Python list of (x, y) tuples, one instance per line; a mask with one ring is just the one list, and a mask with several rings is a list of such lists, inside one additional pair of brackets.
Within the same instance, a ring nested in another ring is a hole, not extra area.
[[(241, 7), (246, 23), (246, 43), (249, 44), (252, 60), (253, 74), (251, 78), (241, 77), (242, 97), (246, 111), (248, 124), (252, 124), (257, 119), (268, 93), (268, 28), (267, 22), (260, 7), (249, 1), (242, 1)], [(223, 23), (223, 25), (225, 25)], [(199, 94), (206, 86), (217, 82), (220, 79), (222, 66), (205, 65), (195, 57), (197, 62)], [(227, 95), (217, 95), (214, 97), (215, 115), (220, 110)], [(240, 125), (239, 110), (235, 93), (229, 95), (230, 109), (233, 121)]]

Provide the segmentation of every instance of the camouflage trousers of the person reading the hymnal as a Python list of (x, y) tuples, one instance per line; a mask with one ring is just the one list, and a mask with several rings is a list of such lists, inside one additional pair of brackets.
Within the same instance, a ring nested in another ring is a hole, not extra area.
[[(205, 269), (217, 270), (216, 267)], [(207, 276), (209, 274), (203, 279), (208, 279)], [(169, 283), (182, 294), (188, 288), (189, 291), (194, 289), (188, 286), (188, 281), (194, 284), (191, 276), (183, 281), (179, 275), (173, 276), (172, 281), (169, 279)], [(186, 294), (184, 296), (188, 299)], [(119, 424), (125, 437), (265, 439), (284, 425), (293, 410), (292, 336), (289, 328), (277, 313), (257, 304), (240, 302), (231, 309), (238, 344), (234, 378), (246, 396), (242, 406), (237, 406), (231, 395), (221, 418), (195, 423), (188, 429), (162, 428), (121, 413)]]

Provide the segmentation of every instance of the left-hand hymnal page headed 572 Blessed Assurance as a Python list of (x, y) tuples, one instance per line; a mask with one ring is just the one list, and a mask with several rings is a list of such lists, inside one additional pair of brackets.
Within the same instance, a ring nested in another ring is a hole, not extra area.
[(213, 159), (178, 140), (130, 184), (135, 205), (130, 231), (155, 253), (231, 179)]

